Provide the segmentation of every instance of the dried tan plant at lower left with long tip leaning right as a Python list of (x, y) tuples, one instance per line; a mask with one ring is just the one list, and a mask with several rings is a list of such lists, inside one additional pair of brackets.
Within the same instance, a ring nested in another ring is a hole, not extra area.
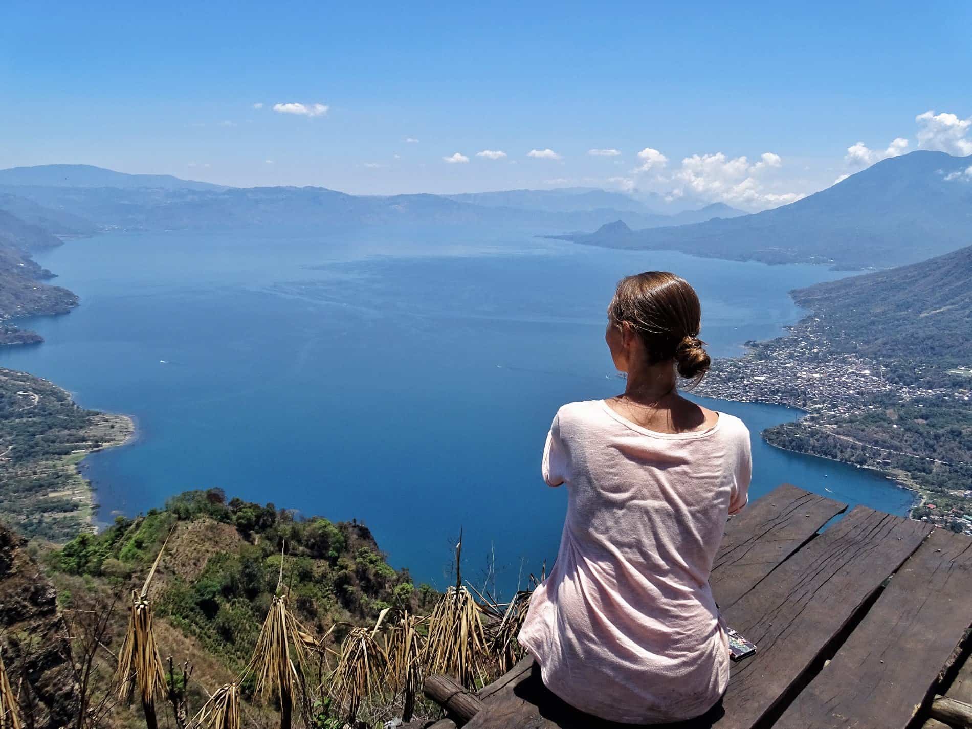
[[(169, 532), (169, 537), (171, 536), (172, 532)], [(116, 672), (121, 701), (130, 704), (132, 698), (134, 698), (135, 689), (138, 689), (148, 729), (157, 729), (158, 727), (156, 695), (165, 686), (162, 659), (158, 655), (156, 634), (152, 627), (153, 610), (152, 601), (148, 597), (149, 585), (156, 575), (158, 563), (162, 559), (162, 553), (165, 551), (165, 544), (168, 543), (168, 540), (169, 538), (166, 537), (165, 541), (162, 542), (162, 546), (156, 555), (156, 561), (152, 565), (149, 575), (145, 578), (141, 592), (132, 590), (131, 608), (129, 608), (128, 613), (128, 630), (125, 633), (124, 641), (121, 643), (118, 671)]]

